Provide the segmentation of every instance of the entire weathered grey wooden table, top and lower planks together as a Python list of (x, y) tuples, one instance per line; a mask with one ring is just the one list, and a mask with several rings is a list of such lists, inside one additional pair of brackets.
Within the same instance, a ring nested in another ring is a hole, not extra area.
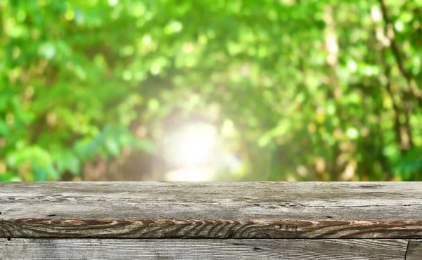
[(0, 259), (422, 259), (422, 183), (0, 183)]

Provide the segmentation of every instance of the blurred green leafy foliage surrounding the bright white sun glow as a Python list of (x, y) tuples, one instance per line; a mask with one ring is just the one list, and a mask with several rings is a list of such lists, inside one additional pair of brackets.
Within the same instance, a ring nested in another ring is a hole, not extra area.
[(0, 0), (0, 48), (0, 181), (159, 156), (174, 108), (233, 179), (422, 180), (422, 0)]

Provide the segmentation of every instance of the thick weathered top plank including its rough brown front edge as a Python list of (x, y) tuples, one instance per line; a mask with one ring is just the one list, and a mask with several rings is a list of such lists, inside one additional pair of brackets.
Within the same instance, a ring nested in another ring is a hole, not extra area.
[(4, 238), (422, 238), (422, 183), (0, 183)]

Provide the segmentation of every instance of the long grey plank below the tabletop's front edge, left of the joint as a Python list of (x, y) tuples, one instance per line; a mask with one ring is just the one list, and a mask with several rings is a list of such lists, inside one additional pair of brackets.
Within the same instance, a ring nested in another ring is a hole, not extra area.
[(0, 239), (0, 259), (404, 259), (407, 240)]

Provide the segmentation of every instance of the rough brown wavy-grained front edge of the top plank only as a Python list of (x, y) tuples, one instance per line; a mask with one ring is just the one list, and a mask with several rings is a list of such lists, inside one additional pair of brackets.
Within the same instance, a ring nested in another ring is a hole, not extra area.
[(9, 219), (0, 238), (422, 238), (421, 220)]

